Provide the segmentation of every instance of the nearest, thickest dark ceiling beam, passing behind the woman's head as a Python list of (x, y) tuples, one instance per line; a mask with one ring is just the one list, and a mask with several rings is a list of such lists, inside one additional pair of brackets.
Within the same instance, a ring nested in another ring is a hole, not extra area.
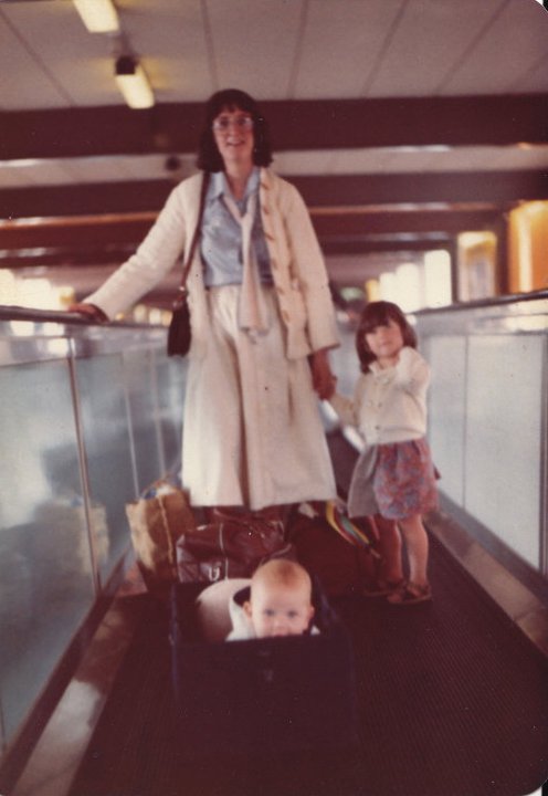
[[(548, 95), (277, 101), (261, 104), (274, 148), (548, 142)], [(201, 103), (0, 113), (0, 159), (196, 151)]]

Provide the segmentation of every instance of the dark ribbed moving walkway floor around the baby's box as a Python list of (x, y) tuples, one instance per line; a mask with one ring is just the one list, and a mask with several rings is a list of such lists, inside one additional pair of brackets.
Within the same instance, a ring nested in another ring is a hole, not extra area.
[(357, 750), (197, 760), (181, 748), (165, 606), (140, 621), (71, 796), (518, 796), (548, 776), (548, 666), (432, 538), (434, 599), (331, 600), (356, 656)]

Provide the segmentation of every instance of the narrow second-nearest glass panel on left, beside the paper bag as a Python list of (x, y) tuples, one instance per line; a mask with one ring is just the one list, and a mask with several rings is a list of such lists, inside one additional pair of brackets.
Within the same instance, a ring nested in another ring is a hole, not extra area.
[(102, 585), (130, 544), (125, 504), (136, 496), (129, 413), (122, 374), (122, 354), (76, 360), (94, 544)]

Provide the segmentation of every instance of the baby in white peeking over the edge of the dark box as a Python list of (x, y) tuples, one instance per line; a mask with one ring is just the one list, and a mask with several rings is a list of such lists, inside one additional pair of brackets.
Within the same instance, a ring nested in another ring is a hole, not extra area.
[[(241, 595), (241, 593), (239, 593)], [(230, 604), (233, 629), (228, 640), (301, 636), (314, 616), (310, 576), (299, 564), (274, 558), (251, 578), (250, 598)], [(317, 629), (313, 628), (313, 632)]]

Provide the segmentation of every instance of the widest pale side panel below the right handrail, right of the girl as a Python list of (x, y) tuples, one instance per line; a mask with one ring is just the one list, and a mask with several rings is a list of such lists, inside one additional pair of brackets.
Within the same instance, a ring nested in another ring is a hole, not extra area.
[(542, 339), (471, 337), (465, 509), (538, 568)]

